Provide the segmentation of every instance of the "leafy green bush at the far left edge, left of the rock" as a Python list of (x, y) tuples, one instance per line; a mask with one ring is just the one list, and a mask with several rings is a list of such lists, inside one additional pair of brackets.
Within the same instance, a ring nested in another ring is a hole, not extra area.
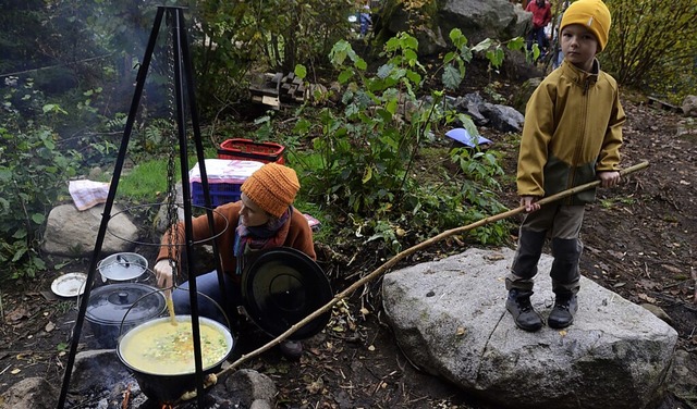
[[(22, 117), (13, 100), (37, 108)], [(65, 115), (59, 106), (44, 103), (30, 83), (10, 84), (0, 108), (0, 265), (3, 278), (33, 277), (46, 269), (39, 253), (40, 232), (52, 203), (68, 193), (80, 154), (58, 147), (57, 133), (41, 122)]]

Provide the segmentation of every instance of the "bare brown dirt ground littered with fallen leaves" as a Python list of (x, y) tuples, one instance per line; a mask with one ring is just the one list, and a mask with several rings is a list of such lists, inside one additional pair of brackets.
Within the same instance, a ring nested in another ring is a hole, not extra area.
[[(680, 334), (678, 348), (687, 351), (694, 363), (697, 133), (693, 129), (677, 136), (684, 119), (661, 107), (628, 98), (623, 103), (628, 117), (623, 163), (629, 166), (649, 161), (649, 168), (626, 177), (615, 189), (599, 190), (582, 233), (586, 245), (583, 273), (634, 302), (662, 308)], [(503, 139), (488, 129), (482, 132), (494, 142)], [(506, 153), (504, 166), (512, 174), (515, 148), (502, 144), (499, 149)], [(505, 200), (511, 208), (517, 206), (513, 189), (506, 186)], [(513, 244), (515, 232), (511, 233)], [(413, 261), (464, 250), (443, 245)], [(344, 256), (351, 259), (355, 255)], [(345, 265), (321, 258), (320, 251), (320, 263), (345, 277), (334, 283), (335, 290), (384, 261), (378, 256), (364, 257), (360, 263)], [(80, 268), (72, 263), (63, 271)], [(50, 283), (60, 272), (0, 283), (0, 392), (29, 376), (45, 377), (60, 388), (76, 315), (74, 300), (56, 299), (50, 294)], [(289, 362), (270, 350), (245, 368), (274, 381), (278, 408), (488, 409), (486, 402), (409, 364), (380, 319), (375, 301), (378, 288), (379, 282), (371, 283), (340, 305), (326, 331), (305, 343), (299, 362)], [(254, 339), (241, 343), (236, 354), (253, 349)], [(695, 399), (673, 394), (662, 408), (696, 407)]]

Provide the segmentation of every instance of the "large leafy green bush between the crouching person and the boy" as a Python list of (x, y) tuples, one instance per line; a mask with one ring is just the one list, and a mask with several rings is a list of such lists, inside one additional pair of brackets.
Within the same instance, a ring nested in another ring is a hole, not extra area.
[[(458, 174), (433, 166), (438, 174), (429, 175), (430, 183), (417, 176), (417, 158), (435, 145), (442, 127), (457, 124), (478, 135), (467, 115), (443, 106), (445, 95), (464, 78), (473, 53), (485, 53), (494, 65), (502, 62), (496, 41), (470, 48), (458, 29), (450, 39), (454, 50), (433, 73), (419, 63), (418, 41), (405, 33), (387, 41), (381, 54), (386, 62), (375, 74), (368, 74), (366, 61), (348, 42), (337, 42), (330, 60), (344, 89), (342, 109), (322, 108), (313, 120), (301, 119), (294, 129), (314, 138), (318, 157), (304, 172), (310, 200), (343, 209), (358, 226), (351, 228), (367, 233), (368, 240), (383, 239), (393, 252), (407, 239), (420, 240), (504, 209), (496, 195), (503, 171), (494, 150), (453, 149), (445, 160)], [(523, 41), (509, 47), (523, 47)], [(305, 67), (298, 66), (296, 74), (303, 77)], [(427, 83), (442, 88), (427, 92)], [(492, 224), (473, 234), (484, 244), (500, 243), (506, 236), (503, 226)]]

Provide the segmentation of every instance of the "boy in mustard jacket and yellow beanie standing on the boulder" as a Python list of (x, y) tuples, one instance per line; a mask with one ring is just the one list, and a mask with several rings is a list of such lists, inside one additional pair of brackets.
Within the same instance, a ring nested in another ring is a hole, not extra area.
[(542, 247), (549, 238), (554, 261), (550, 271), (554, 306), (547, 324), (564, 329), (578, 309), (579, 238), (585, 205), (596, 190), (579, 191), (560, 201), (537, 201), (600, 179), (613, 187), (620, 181), (620, 147), (624, 111), (617, 83), (600, 70), (596, 54), (608, 44), (611, 15), (600, 0), (572, 3), (561, 22), (562, 65), (533, 92), (525, 111), (518, 153), (517, 190), (527, 214), (518, 246), (505, 277), (505, 306), (525, 331), (542, 327), (530, 302)]

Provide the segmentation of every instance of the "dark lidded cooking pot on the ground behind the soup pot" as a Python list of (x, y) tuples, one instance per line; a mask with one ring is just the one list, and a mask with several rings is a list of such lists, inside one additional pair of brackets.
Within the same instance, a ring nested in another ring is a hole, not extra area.
[(161, 317), (167, 310), (162, 293), (138, 283), (109, 284), (93, 289), (85, 319), (102, 348), (115, 348), (121, 333)]

